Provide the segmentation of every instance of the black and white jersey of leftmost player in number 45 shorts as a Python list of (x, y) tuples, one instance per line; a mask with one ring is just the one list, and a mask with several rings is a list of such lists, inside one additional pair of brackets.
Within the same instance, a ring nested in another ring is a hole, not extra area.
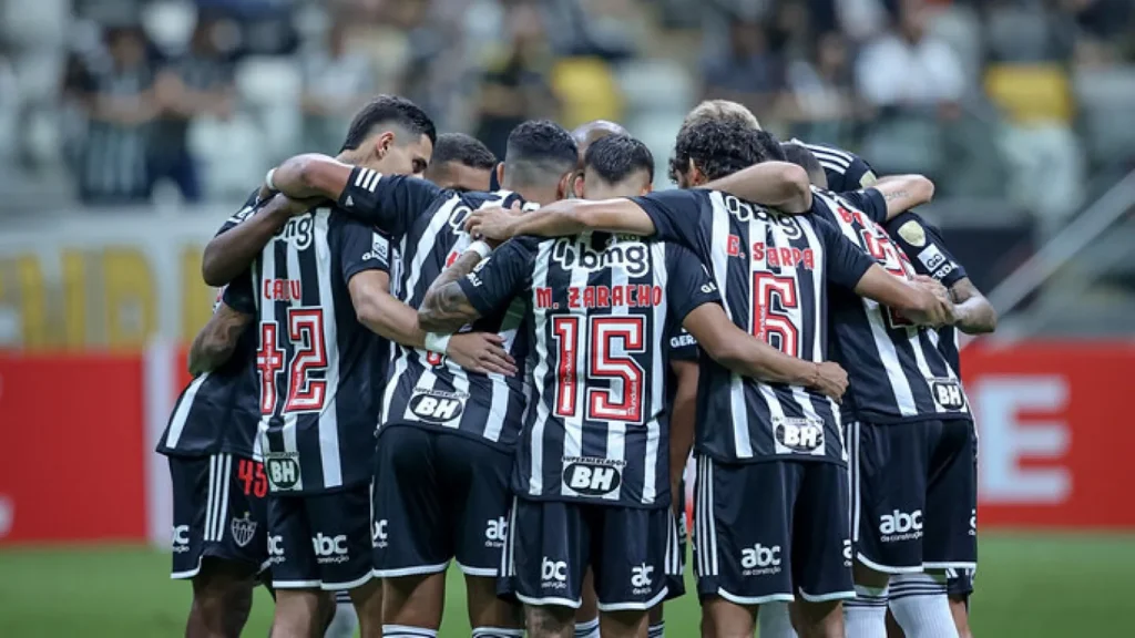
[[(217, 234), (245, 219), (255, 204), (253, 193)], [(250, 292), (245, 286), (238, 288), (233, 294), (243, 295), (239, 305), (250, 305)], [(225, 292), (225, 288), (218, 292), (215, 312)], [(185, 386), (174, 404), (166, 431), (158, 440), (159, 453), (169, 456), (233, 454), (260, 460), (257, 439), (260, 392), (257, 388), (255, 352), (257, 330), (250, 326), (241, 334), (228, 361), (216, 370), (197, 375)]]

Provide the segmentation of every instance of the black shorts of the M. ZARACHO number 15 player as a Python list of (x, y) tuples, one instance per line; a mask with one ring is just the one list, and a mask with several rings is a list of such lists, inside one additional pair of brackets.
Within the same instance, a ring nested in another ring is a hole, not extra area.
[(526, 605), (579, 608), (591, 568), (599, 611), (646, 611), (679, 573), (670, 507), (514, 498), (498, 591)]

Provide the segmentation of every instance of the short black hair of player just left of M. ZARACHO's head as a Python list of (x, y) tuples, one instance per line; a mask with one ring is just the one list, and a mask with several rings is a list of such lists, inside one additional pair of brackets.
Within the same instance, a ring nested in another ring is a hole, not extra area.
[(563, 126), (530, 119), (508, 134), (504, 162), (510, 182), (539, 184), (573, 170), (579, 165), (579, 146)]

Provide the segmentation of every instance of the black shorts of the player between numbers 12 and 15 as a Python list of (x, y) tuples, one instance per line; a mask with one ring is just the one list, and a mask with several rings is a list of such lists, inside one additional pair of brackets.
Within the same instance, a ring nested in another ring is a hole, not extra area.
[(466, 436), (385, 426), (375, 470), (375, 574), (496, 578), (513, 455)]

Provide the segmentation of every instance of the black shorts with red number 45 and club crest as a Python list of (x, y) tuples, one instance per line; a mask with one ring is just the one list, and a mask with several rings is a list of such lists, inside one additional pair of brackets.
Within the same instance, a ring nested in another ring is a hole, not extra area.
[(232, 454), (169, 457), (174, 488), (173, 578), (193, 578), (205, 556), (259, 571), (268, 562), (264, 467)]

